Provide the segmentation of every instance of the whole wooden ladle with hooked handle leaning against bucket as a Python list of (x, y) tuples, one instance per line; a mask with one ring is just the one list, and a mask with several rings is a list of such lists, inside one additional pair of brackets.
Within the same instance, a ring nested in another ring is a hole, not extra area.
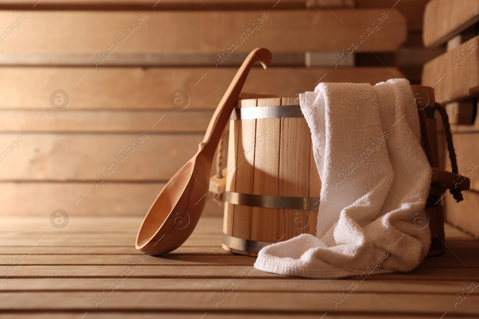
[(148, 210), (138, 231), (137, 249), (150, 255), (169, 253), (191, 235), (205, 208), (219, 137), (228, 123), (246, 77), (254, 62), (260, 61), (266, 69), (271, 58), (271, 52), (264, 48), (254, 49), (246, 57), (219, 102), (198, 152), (171, 177)]

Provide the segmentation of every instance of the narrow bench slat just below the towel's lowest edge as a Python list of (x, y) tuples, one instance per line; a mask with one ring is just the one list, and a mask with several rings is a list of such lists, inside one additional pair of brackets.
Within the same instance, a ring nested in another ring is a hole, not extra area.
[[(136, 256), (135, 256), (136, 257)], [(346, 281), (347, 282), (347, 281)], [(254, 279), (245, 280), (235, 291), (314, 291), (314, 292), (337, 292), (344, 288), (344, 280), (311, 280), (311, 279)], [(35, 291), (35, 290), (102, 290), (105, 285), (110, 285), (110, 278), (28, 278), (28, 279), (5, 279), (0, 285), (1, 291)], [(144, 290), (144, 291), (171, 291), (171, 290), (222, 290), (230, 286), (230, 279), (205, 279), (205, 278), (130, 278), (118, 286), (118, 291)], [(361, 283), (363, 292), (414, 292), (414, 293), (453, 293), (461, 291), (470, 282), (458, 281), (454, 283), (444, 282), (367, 282)], [(116, 290), (116, 289), (115, 289)], [(77, 318), (78, 319), (78, 318)], [(317, 319), (317, 318), (316, 318)], [(437, 318), (436, 318), (437, 319)]]

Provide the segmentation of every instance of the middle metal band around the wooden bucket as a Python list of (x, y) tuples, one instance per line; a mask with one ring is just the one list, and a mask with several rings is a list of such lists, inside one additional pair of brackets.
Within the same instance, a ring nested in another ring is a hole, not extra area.
[(254, 195), (225, 191), (225, 202), (235, 205), (278, 209), (319, 209), (319, 197)]

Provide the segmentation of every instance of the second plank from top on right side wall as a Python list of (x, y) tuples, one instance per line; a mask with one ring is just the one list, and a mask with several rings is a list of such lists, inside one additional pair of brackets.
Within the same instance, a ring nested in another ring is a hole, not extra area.
[(447, 103), (479, 94), (479, 40), (474, 37), (427, 62), (422, 85), (433, 87), (436, 102)]

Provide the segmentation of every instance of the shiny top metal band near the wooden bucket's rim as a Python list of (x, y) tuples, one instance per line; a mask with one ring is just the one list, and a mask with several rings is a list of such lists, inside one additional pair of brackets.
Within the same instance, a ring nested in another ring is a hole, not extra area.
[(299, 105), (258, 106), (235, 108), (231, 120), (277, 119), (304, 117)]

